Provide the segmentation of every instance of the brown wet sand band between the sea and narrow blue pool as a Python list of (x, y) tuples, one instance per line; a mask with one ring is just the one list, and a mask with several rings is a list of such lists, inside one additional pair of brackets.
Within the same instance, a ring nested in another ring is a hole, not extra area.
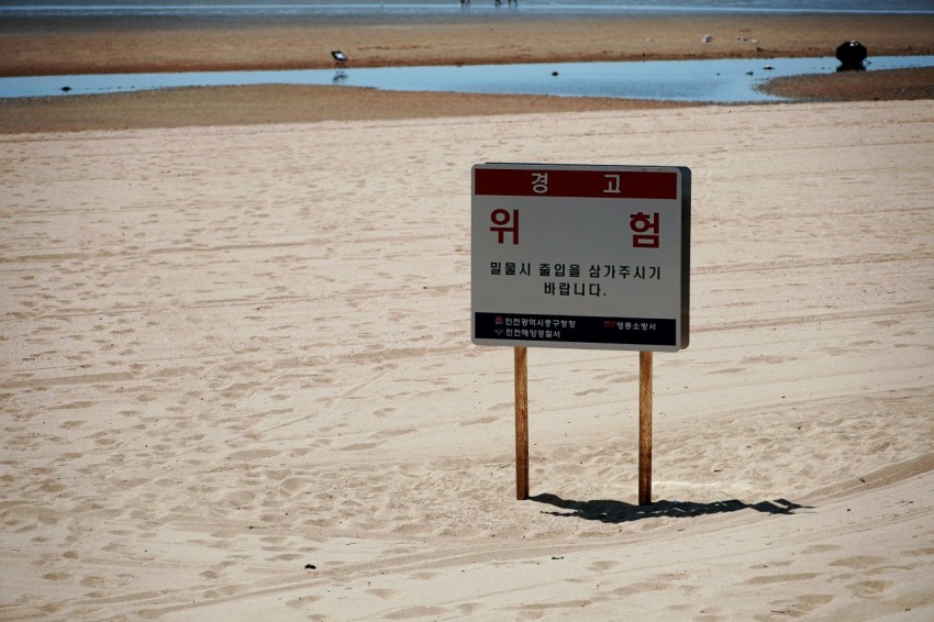
[(916, 55), (934, 54), (932, 33), (924, 15), (0, 20), (0, 76), (326, 68), (335, 48), (352, 67), (832, 56), (848, 40)]

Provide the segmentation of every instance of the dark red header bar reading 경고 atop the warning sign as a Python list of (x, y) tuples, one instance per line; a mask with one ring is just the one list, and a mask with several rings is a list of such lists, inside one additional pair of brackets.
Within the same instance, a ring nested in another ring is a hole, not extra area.
[(477, 168), (474, 193), (503, 197), (677, 199), (678, 174), (657, 170)]

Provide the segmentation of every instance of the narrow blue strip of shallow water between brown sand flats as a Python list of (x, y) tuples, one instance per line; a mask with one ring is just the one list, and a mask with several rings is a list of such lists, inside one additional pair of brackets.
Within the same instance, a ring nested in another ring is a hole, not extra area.
[[(782, 101), (757, 89), (769, 78), (830, 74), (837, 66), (835, 58), (824, 57), (37, 76), (0, 78), (0, 98), (178, 87), (340, 85), (398, 91), (754, 103)], [(869, 70), (932, 66), (934, 56), (878, 56), (867, 64)]]

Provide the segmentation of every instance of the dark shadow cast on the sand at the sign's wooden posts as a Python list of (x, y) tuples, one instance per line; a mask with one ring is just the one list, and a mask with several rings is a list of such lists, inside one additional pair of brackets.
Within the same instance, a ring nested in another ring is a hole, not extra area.
[(529, 498), (531, 501), (554, 506), (564, 511), (544, 511), (555, 517), (580, 518), (603, 523), (626, 523), (653, 518), (688, 518), (722, 512), (738, 512), (740, 510), (756, 510), (767, 514), (793, 514), (794, 510), (809, 509), (810, 506), (799, 506), (786, 499), (744, 503), (736, 499), (694, 503), (692, 501), (656, 501), (651, 506), (633, 506), (622, 501), (593, 500), (574, 501), (561, 499), (556, 495), (543, 493)]

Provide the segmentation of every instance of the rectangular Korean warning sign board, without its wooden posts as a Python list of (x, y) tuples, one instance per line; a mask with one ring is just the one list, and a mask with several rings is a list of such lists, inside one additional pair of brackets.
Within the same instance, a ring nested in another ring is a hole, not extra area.
[(690, 177), (675, 166), (475, 166), (474, 343), (687, 347)]

